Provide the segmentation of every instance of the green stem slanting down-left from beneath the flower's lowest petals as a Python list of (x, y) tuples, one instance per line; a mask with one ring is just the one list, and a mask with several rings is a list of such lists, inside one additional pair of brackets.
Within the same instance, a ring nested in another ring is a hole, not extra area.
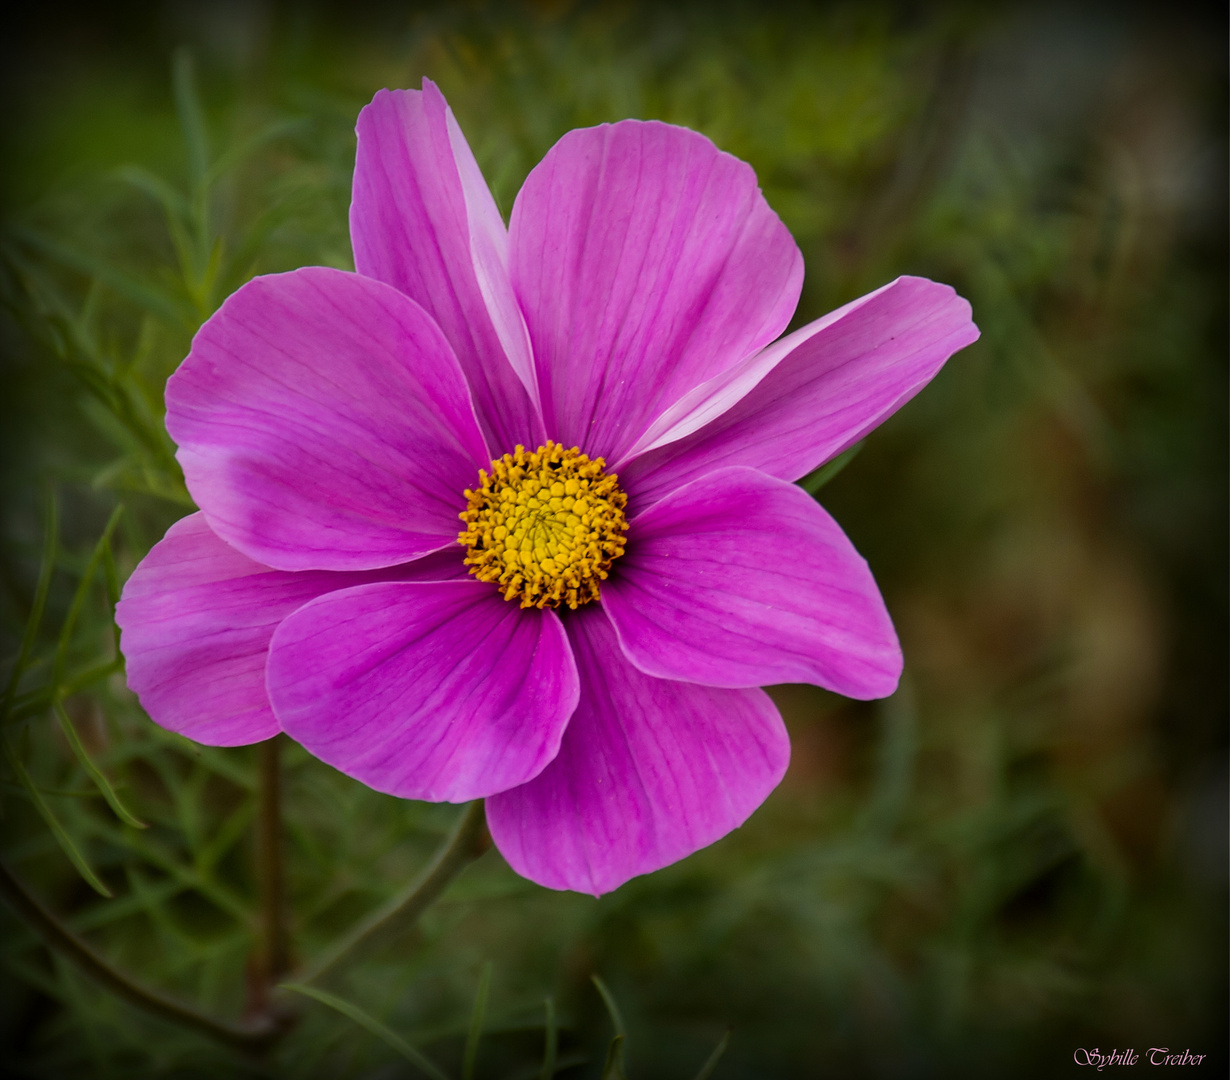
[(412, 924), (444, 892), (449, 882), (491, 846), (482, 800), (471, 802), (458, 818), (432, 861), (405, 889), (378, 908), (311, 963), (298, 982), (320, 979), (370, 940)]

